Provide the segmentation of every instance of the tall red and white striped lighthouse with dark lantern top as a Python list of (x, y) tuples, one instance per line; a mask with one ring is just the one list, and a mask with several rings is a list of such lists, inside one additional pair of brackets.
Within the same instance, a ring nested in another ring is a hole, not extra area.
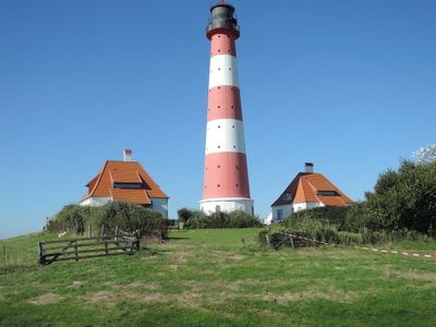
[(244, 210), (253, 215), (237, 66), (240, 29), (232, 5), (219, 2), (210, 13), (206, 28), (211, 44), (206, 159), (199, 205), (206, 214)]

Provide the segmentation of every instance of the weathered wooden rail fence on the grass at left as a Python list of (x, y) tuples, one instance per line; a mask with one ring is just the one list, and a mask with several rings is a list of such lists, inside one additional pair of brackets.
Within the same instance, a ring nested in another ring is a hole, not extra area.
[(90, 257), (134, 254), (140, 250), (140, 232), (128, 233), (117, 228), (114, 235), (38, 242), (39, 264), (80, 261)]

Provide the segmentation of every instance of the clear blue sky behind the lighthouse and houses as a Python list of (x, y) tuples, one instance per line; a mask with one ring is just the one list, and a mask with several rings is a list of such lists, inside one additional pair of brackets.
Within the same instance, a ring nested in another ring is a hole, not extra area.
[[(0, 0), (0, 239), (43, 227), (131, 147), (202, 196), (211, 1)], [(433, 144), (436, 1), (234, 0), (255, 211), (313, 161), (354, 199)]]

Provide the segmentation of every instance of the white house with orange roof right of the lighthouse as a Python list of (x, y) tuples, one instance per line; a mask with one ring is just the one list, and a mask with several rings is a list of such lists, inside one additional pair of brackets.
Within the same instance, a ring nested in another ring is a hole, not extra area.
[(312, 162), (305, 162), (305, 171), (299, 172), (271, 205), (271, 219), (280, 221), (299, 210), (325, 206), (344, 207), (353, 203), (324, 174), (315, 173)]

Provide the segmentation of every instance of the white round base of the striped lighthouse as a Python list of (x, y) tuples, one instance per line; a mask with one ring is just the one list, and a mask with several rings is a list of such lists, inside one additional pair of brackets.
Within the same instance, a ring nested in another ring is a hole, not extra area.
[(235, 210), (245, 211), (254, 216), (254, 201), (246, 197), (220, 197), (207, 198), (199, 202), (199, 208), (206, 215), (216, 211), (231, 213)]

